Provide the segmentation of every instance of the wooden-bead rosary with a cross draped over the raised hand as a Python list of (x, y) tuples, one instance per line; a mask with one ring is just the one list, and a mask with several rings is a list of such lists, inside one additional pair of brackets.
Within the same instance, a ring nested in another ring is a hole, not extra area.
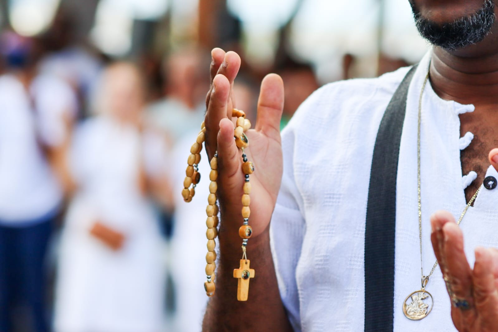
[[(249, 237), (252, 235), (252, 228), (249, 226), (249, 216), (250, 216), (250, 190), (251, 185), (249, 182), (249, 175), (254, 172), (254, 164), (248, 161), (244, 149), (249, 146), (249, 140), (244, 133), (250, 128), (250, 121), (246, 119), (246, 113), (237, 109), (233, 109), (232, 116), (237, 117), (237, 126), (234, 129), (235, 143), (239, 149), (242, 151), (242, 171), (245, 174), (245, 182), (242, 195), (242, 218), (244, 219), (244, 224), (239, 228), (239, 236), (242, 237), (242, 259), (240, 260), (240, 267), (234, 269), (234, 278), (237, 278), (237, 300), (247, 301), (249, 295), (249, 280), (254, 278), (254, 269), (249, 268), (249, 259), (247, 259), (246, 247), (248, 245)], [(187, 160), (187, 170), (185, 181), (183, 182), (182, 196), (185, 202), (191, 202), (195, 195), (195, 187), (201, 180), (201, 174), (199, 173), (199, 162), (201, 161), (201, 151), (202, 143), (205, 140), (206, 127), (204, 122), (201, 125), (201, 131), (197, 136), (196, 142), (190, 148), (190, 155)], [(215, 293), (215, 270), (216, 270), (216, 242), (215, 238), (218, 236), (218, 212), (219, 208), (216, 203), (216, 191), (218, 190), (218, 185), (216, 180), (218, 179), (218, 152), (215, 153), (214, 157), (211, 159), (211, 173), (209, 174), (209, 179), (211, 183), (209, 184), (209, 196), (208, 196), (208, 206), (206, 208), (206, 214), (208, 219), (206, 225), (208, 230), (206, 231), (206, 237), (208, 238), (208, 253), (206, 254), (206, 277), (207, 281), (204, 283), (204, 289), (206, 290), (206, 295), (212, 297)], [(192, 186), (192, 187), (191, 187)], [(191, 187), (191, 188), (190, 188)]]

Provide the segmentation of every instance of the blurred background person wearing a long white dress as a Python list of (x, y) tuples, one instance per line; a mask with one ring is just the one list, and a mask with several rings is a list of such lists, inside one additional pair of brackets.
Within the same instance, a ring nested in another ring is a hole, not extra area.
[(158, 332), (162, 240), (151, 198), (171, 209), (164, 139), (142, 123), (144, 86), (128, 63), (103, 74), (97, 115), (70, 151), (75, 191), (61, 235), (57, 332)]

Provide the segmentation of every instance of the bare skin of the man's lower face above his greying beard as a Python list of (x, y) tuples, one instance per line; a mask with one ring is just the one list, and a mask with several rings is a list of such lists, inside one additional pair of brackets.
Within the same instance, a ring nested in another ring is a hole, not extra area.
[(472, 15), (483, 6), (485, 0), (409, 0), (409, 2), (424, 18), (442, 25)]

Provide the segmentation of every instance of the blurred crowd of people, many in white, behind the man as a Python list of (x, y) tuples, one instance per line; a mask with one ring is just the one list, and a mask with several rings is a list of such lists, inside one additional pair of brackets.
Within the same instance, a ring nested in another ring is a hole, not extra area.
[[(180, 192), (210, 49), (112, 57), (74, 33), (62, 10), (38, 35), (0, 33), (0, 332), (200, 331), (209, 192), (201, 183), (189, 205)], [(282, 128), (324, 83), (286, 51), (286, 33), (262, 69), (226, 36), (252, 123), (264, 73), (284, 80)], [(406, 65), (378, 61), (379, 73)], [(341, 71), (355, 76), (357, 57), (344, 54)]]

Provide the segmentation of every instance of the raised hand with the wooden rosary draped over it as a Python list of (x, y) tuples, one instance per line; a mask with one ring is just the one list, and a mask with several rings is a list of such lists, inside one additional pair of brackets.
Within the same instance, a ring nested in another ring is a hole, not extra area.
[[(234, 80), (241, 59), (235, 52), (215, 48), (212, 51), (211, 88), (206, 98), (206, 150), (209, 159), (218, 151), (218, 198), (223, 215), (223, 228), (242, 225), (242, 195), (244, 173), (242, 152), (234, 140), (236, 107), (233, 96)], [(282, 178), (282, 147), (280, 118), (284, 90), (282, 79), (276, 74), (267, 75), (262, 83), (257, 103), (257, 120), (254, 129), (246, 132), (249, 148), (245, 150), (255, 165), (250, 175), (250, 221), (252, 238), (268, 230)], [(237, 238), (239, 241), (239, 238)]]

